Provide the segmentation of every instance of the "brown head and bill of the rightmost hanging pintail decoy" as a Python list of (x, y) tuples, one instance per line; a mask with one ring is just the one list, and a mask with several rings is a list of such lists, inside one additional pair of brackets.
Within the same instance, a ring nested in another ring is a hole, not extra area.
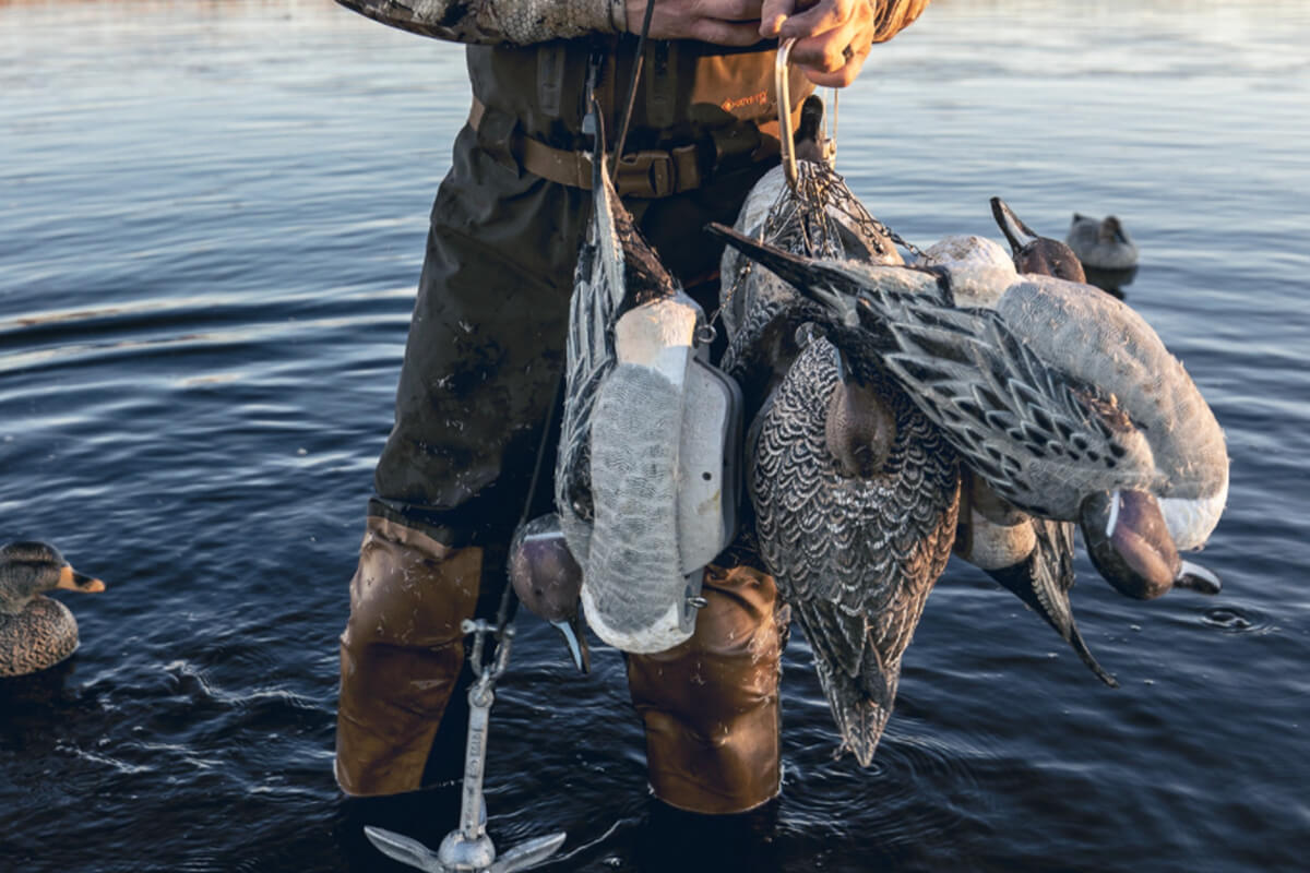
[(1091, 563), (1116, 590), (1153, 599), (1171, 588), (1217, 594), (1220, 580), (1178, 555), (1159, 504), (1141, 491), (1093, 495), (1079, 512)]

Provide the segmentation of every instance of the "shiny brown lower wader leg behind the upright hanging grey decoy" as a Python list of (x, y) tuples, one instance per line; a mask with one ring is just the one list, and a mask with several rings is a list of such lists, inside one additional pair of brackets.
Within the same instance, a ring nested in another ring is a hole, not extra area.
[(707, 601), (688, 641), (627, 657), (633, 704), (646, 722), (655, 797), (720, 815), (778, 796), (778, 682), (786, 607), (773, 579), (751, 567), (706, 571)]

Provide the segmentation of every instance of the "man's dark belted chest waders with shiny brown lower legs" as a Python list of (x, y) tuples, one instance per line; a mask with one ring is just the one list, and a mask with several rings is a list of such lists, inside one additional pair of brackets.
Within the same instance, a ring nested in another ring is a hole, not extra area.
[[(608, 131), (617, 130), (635, 42), (607, 39), (599, 90)], [(451, 695), (469, 681), (461, 620), (490, 616), (504, 585), (503, 550), (563, 368), (591, 208), (579, 131), (593, 48), (468, 48), (474, 105), (432, 207), (396, 424), (341, 637), (335, 772), (347, 794), (394, 794), (458, 772), (461, 738), (436, 743), (456, 750), (451, 772), (435, 771), (430, 749)], [(706, 312), (717, 304), (706, 279), (720, 249), (701, 229), (731, 225), (778, 153), (773, 52), (710, 48), (647, 45), (616, 174), (642, 232)], [(793, 81), (793, 99), (810, 90)], [(749, 567), (711, 565), (702, 594), (696, 635), (629, 656), (629, 685), (655, 796), (735, 813), (779, 789), (786, 620), (773, 580)], [(443, 734), (462, 730), (460, 719), (445, 721)]]

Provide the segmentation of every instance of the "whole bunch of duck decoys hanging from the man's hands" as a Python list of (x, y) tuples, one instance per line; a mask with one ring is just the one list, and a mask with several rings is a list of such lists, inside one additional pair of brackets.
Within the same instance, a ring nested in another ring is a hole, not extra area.
[(909, 246), (832, 169), (821, 118), (807, 101), (795, 153), (735, 229), (710, 228), (730, 246), (722, 372), (705, 314), (597, 157), (557, 516), (519, 538), (511, 567), (557, 626), (576, 628), (580, 597), (604, 641), (655, 652), (692, 633), (701, 568), (730, 541), (753, 551), (804, 631), (842, 746), (867, 764), (952, 550), (1115, 685), (1073, 619), (1074, 527), (1124, 594), (1217, 592), (1179, 550), (1216, 526), (1227, 455), (1182, 364), (1085, 284), (1065, 243), (993, 199), (1009, 253), (981, 237)]

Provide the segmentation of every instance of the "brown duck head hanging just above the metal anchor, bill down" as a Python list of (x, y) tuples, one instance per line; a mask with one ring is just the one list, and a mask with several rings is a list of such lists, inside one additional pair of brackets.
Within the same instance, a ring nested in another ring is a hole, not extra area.
[(538, 516), (515, 531), (508, 569), (523, 605), (559, 631), (574, 665), (587, 673), (591, 652), (582, 627), (582, 568), (569, 551), (555, 513)]

